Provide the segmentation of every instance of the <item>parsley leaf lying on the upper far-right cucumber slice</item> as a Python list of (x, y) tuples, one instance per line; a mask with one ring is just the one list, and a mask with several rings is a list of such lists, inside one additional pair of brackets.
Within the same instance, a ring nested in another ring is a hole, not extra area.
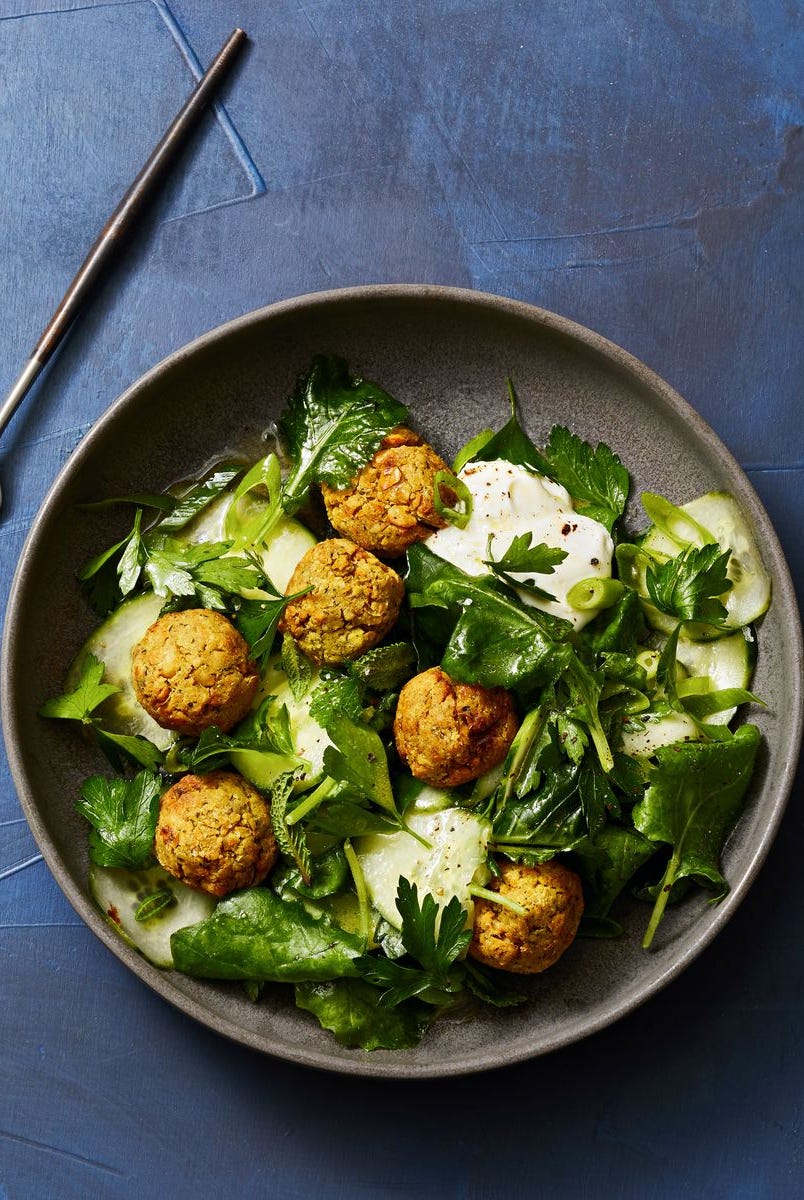
[(722, 625), (726, 608), (720, 600), (732, 583), (726, 576), (731, 550), (715, 542), (690, 546), (666, 563), (648, 564), (646, 584), (660, 612), (679, 620)]

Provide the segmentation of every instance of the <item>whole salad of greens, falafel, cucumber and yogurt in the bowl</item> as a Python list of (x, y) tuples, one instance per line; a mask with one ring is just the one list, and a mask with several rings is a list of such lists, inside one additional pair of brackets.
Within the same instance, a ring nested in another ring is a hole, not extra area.
[[(100, 500), (100, 624), (42, 708), (110, 770), (77, 798), (91, 894), (151, 962), (287, 984), (344, 1045), (446, 1013), (725, 895), (760, 745), (736, 720), (770, 584), (722, 492), (680, 505), (556, 426), (448, 464), (318, 356), (257, 462)], [(97, 506), (97, 505), (96, 505)], [(560, 970), (560, 968), (558, 968)], [(504, 1016), (500, 1016), (504, 1019)]]

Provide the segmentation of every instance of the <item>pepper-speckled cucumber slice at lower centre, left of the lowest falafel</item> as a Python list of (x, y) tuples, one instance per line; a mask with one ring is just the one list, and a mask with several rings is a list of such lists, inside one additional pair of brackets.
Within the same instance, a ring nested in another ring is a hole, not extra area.
[(415, 808), (406, 820), (428, 846), (422, 846), (403, 829), (370, 834), (355, 842), (371, 901), (389, 925), (398, 929), (396, 892), (400, 877), (404, 876), (416, 884), (420, 900), (430, 893), (439, 905), (446, 905), (457, 896), (470, 919), (474, 902), (469, 888), (488, 880), (486, 850), (491, 826), (466, 809), (433, 812), (415, 811)]

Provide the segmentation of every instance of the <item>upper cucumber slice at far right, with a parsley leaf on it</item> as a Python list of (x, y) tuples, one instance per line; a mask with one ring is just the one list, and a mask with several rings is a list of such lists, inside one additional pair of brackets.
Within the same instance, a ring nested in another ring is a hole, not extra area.
[[(740, 629), (757, 620), (770, 604), (770, 578), (737, 500), (727, 492), (707, 492), (706, 496), (683, 504), (680, 510), (694, 522), (684, 527), (686, 532), (695, 534), (695, 526), (701, 528), (701, 534), (690, 545), (704, 545), (702, 535), (708, 532), (724, 550), (732, 552), (727, 570), (732, 588), (724, 596), (728, 629)], [(646, 532), (642, 546), (653, 554), (667, 558), (674, 557), (679, 550), (678, 541), (656, 526)], [(646, 614), (654, 629), (665, 634), (672, 631), (672, 618), (658, 612), (652, 605), (646, 605)], [(688, 634), (690, 632), (702, 641), (722, 636), (720, 630), (708, 625), (688, 626)]]

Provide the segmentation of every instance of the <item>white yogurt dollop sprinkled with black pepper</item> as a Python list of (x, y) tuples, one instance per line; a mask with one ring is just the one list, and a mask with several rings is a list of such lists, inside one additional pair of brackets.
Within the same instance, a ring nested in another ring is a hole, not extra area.
[(434, 533), (427, 540), (430, 550), (468, 575), (486, 575), (485, 559), (502, 558), (517, 534), (530, 533), (532, 546), (544, 542), (566, 551), (566, 558), (552, 575), (511, 575), (534, 580), (554, 600), (539, 599), (526, 588), (517, 588), (517, 595), (523, 604), (572, 622), (576, 629), (586, 625), (594, 612), (571, 608), (566, 593), (581, 580), (611, 577), (614, 544), (606, 527), (576, 512), (560, 484), (510, 462), (470, 462), (458, 479), (472, 493), (472, 516), (463, 529), (448, 526)]

